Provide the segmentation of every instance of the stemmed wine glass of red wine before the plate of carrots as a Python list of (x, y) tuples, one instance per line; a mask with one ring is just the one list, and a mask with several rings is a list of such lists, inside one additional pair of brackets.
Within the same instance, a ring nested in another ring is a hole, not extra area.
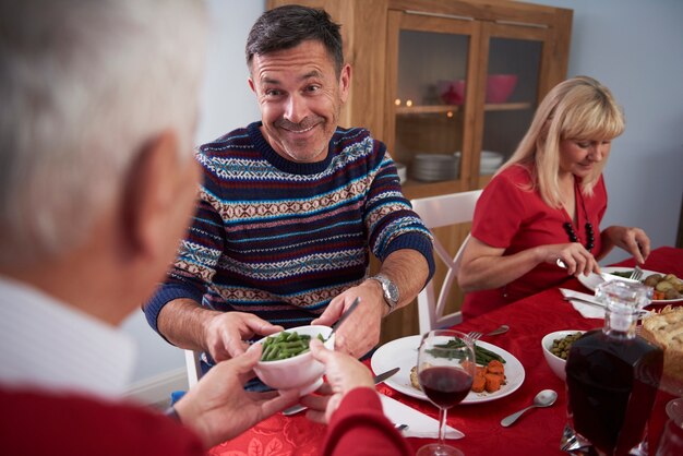
[(474, 341), (451, 329), (434, 329), (422, 336), (418, 352), (418, 382), (429, 400), (439, 407), (439, 443), (422, 446), (417, 456), (463, 456), (445, 443), (446, 411), (460, 403), (475, 377)]

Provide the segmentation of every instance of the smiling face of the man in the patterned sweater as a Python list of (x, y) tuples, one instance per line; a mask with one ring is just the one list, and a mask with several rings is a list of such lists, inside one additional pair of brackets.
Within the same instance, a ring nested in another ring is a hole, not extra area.
[(350, 68), (337, 77), (320, 41), (254, 56), (249, 85), (259, 100), (261, 131), (275, 152), (299, 163), (325, 159), (349, 81)]

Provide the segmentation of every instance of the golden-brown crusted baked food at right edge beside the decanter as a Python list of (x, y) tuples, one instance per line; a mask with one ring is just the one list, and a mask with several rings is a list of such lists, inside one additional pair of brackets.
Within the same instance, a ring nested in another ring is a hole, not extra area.
[(664, 351), (664, 375), (683, 382), (683, 308), (652, 312), (643, 319), (640, 335)]

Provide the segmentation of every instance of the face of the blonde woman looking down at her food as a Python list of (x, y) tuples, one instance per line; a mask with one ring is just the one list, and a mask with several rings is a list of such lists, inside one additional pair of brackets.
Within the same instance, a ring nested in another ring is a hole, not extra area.
[(586, 178), (610, 154), (609, 140), (562, 140), (560, 142), (560, 172)]

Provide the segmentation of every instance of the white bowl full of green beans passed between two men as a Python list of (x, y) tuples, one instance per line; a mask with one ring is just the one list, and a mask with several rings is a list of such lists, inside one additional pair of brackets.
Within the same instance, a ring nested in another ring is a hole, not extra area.
[(275, 333), (257, 341), (263, 346), (254, 372), (263, 383), (275, 389), (300, 389), (301, 395), (314, 392), (323, 384), (325, 367), (309, 350), (311, 338), (319, 338), (334, 350), (329, 326), (299, 326)]

